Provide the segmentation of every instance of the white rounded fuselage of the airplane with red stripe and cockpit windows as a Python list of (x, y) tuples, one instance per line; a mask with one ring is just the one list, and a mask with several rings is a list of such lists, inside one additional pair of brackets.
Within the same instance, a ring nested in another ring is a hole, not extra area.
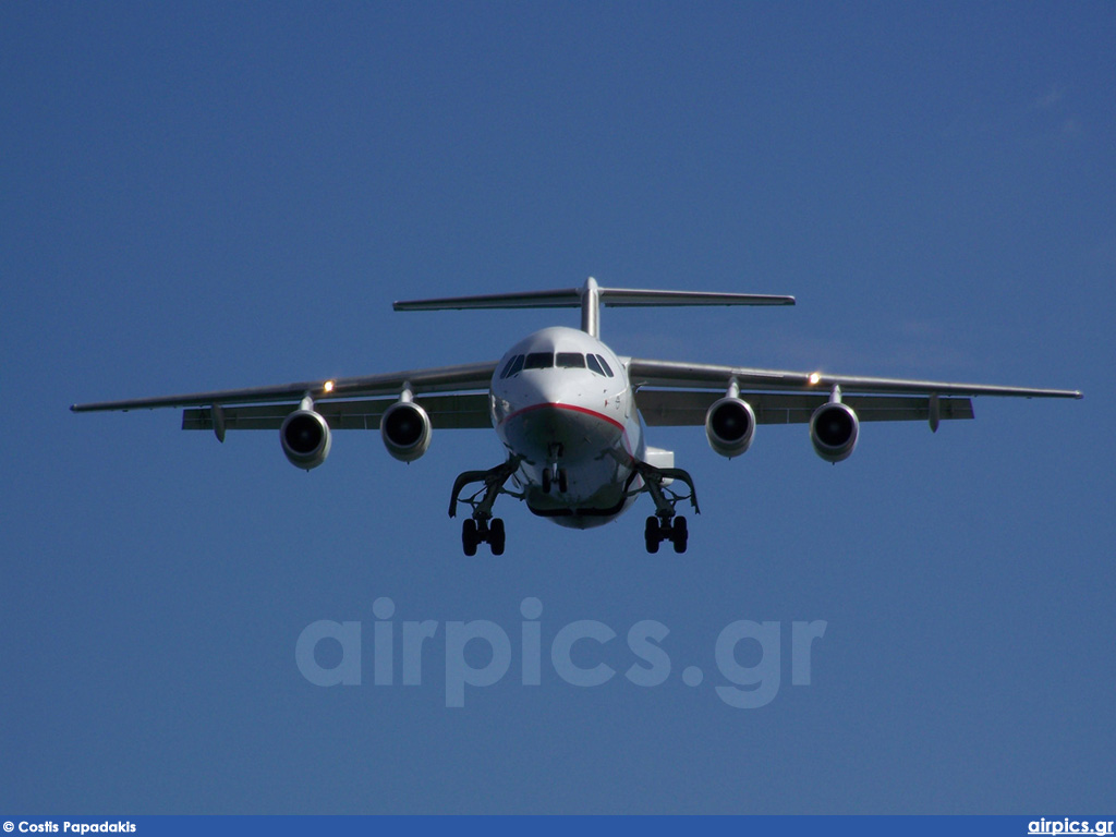
[[(643, 426), (624, 365), (599, 339), (575, 328), (536, 331), (503, 356), (489, 392), (492, 426), (519, 458), (511, 479), (532, 512), (585, 529), (633, 502)], [(552, 479), (559, 470), (565, 490)]]

